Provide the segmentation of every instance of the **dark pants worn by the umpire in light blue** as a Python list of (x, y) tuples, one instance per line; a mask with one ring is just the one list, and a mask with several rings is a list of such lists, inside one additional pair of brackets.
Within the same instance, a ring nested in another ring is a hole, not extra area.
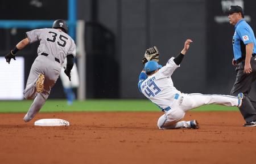
[(256, 120), (256, 101), (252, 100), (248, 95), (251, 90), (251, 84), (256, 79), (256, 57), (251, 58), (251, 68), (253, 71), (250, 74), (245, 74), (243, 72), (244, 66), (245, 61), (242, 61), (238, 63), (236, 67), (236, 82), (231, 90), (231, 95), (237, 96), (237, 94), (240, 92), (244, 94), (240, 112), (245, 121), (248, 123)]

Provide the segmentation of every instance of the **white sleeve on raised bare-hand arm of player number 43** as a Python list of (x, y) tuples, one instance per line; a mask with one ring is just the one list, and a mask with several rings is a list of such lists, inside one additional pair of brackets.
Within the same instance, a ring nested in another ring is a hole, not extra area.
[(168, 76), (171, 76), (174, 71), (176, 70), (176, 68), (180, 67), (180, 64), (177, 65), (175, 62), (174, 62), (174, 57), (172, 57), (171, 59), (169, 59), (169, 61), (166, 63), (166, 66), (163, 66), (159, 72), (160, 74), (163, 76), (163, 77), (168, 77)]

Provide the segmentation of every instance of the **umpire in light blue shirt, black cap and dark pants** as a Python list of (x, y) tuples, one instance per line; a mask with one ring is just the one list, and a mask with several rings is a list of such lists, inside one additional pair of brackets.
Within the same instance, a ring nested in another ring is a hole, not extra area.
[(242, 92), (244, 94), (240, 112), (246, 123), (245, 127), (256, 127), (256, 101), (249, 97), (251, 84), (256, 79), (256, 40), (253, 29), (246, 23), (244, 12), (240, 6), (230, 6), (229, 23), (234, 25), (233, 36), (234, 58), (233, 66), (236, 66), (236, 82), (231, 90), (231, 94), (236, 96)]

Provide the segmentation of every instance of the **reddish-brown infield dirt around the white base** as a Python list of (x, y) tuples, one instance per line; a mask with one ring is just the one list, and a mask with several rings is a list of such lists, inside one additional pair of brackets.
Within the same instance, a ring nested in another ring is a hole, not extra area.
[[(254, 163), (256, 127), (238, 111), (189, 112), (199, 130), (159, 130), (161, 112), (0, 114), (0, 163)], [(37, 127), (61, 118), (69, 127)]]

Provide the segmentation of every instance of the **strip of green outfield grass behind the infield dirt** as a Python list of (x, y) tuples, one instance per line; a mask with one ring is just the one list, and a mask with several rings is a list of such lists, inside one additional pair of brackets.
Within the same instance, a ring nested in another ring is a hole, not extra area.
[[(32, 101), (0, 101), (0, 113), (26, 113)], [(148, 100), (86, 100), (67, 105), (66, 100), (47, 100), (40, 112), (58, 111), (160, 111)], [(238, 111), (237, 107), (205, 105), (195, 111)]]

